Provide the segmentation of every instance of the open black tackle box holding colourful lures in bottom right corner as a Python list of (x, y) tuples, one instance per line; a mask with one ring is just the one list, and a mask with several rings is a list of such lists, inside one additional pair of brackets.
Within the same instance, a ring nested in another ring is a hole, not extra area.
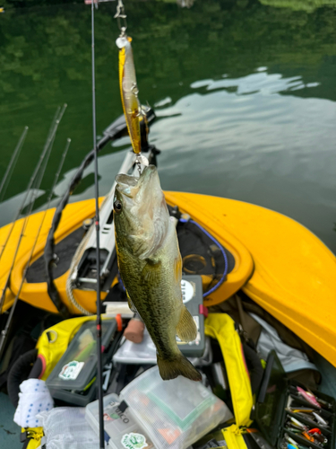
[[(287, 447), (287, 444), (285, 444), (285, 434), (297, 442), (298, 446), (306, 447), (307, 449), (334, 449), (336, 401), (331, 396), (327, 396), (322, 392), (313, 392), (318, 399), (330, 404), (330, 407), (320, 409), (300, 396), (297, 392), (297, 387), (301, 387), (305, 391), (307, 390), (304, 384), (287, 379), (279, 357), (272, 350), (267, 358), (263, 382), (251, 416), (251, 419), (254, 419), (254, 425), (259, 427), (266, 441), (278, 449)], [(287, 411), (289, 402), (290, 407), (295, 409), (308, 408), (318, 411), (321, 417), (328, 421), (329, 427), (310, 421), (308, 418), (303, 418), (297, 415), (297, 413)], [(311, 429), (320, 429), (323, 436), (328, 439), (328, 442), (324, 445), (316, 445), (306, 439), (305, 436), (286, 429), (285, 427), (287, 426), (286, 423), (289, 417), (297, 419), (301, 424)]]

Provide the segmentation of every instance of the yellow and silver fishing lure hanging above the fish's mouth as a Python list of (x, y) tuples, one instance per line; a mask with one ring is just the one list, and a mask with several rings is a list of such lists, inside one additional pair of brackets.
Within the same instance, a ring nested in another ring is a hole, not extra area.
[(119, 84), (121, 101), (135, 154), (141, 152), (141, 105), (138, 99), (138, 86), (136, 84), (134, 57), (131, 46), (132, 38), (120, 36), (116, 40), (119, 48)]

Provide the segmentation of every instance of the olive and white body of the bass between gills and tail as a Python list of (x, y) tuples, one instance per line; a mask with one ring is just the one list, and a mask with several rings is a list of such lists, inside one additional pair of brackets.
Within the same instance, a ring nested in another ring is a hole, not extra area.
[[(142, 317), (159, 355), (169, 357), (176, 354), (179, 352), (176, 330), (183, 303), (181, 275), (177, 274), (177, 269), (181, 271), (181, 256), (175, 226), (169, 224), (164, 244), (150, 260), (135, 258), (120, 247), (118, 251), (119, 270), (125, 289)], [(146, 277), (144, 273), (148, 271), (151, 276)]]

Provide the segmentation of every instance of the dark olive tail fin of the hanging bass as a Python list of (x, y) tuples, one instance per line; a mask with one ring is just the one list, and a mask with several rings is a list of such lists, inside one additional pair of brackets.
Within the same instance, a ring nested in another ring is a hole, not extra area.
[(164, 381), (175, 379), (177, 375), (184, 375), (192, 381), (201, 381), (202, 375), (196, 370), (194, 365), (189, 362), (181, 353), (172, 358), (159, 357), (159, 374)]

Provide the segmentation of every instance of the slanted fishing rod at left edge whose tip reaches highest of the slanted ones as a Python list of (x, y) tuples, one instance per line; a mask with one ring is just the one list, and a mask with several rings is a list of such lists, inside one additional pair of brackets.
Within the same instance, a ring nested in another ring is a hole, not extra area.
[[(65, 113), (66, 106), (67, 105), (64, 104), (62, 110), (60, 110), (59, 107), (56, 110), (55, 117), (54, 117), (54, 119), (52, 121), (52, 125), (51, 125), (51, 127), (49, 129), (49, 132), (48, 132), (46, 144), (44, 145), (43, 150), (42, 150), (42, 152), (41, 152), (41, 154), (39, 156), (39, 162), (36, 165), (35, 170), (34, 170), (34, 172), (32, 173), (32, 175), (30, 177), (30, 181), (29, 181), (27, 189), (26, 189), (26, 195), (24, 196), (24, 198), (22, 200), (22, 204), (19, 207), (19, 209), (18, 209), (18, 211), (16, 213), (16, 216), (13, 219), (13, 223), (12, 223), (11, 229), (9, 230), (9, 233), (7, 234), (7, 237), (6, 237), (5, 241), (4, 241), (4, 244), (2, 245), (2, 248), (0, 250), (0, 260), (1, 260), (2, 256), (3, 256), (3, 254), (4, 254), (4, 249), (5, 249), (6, 245), (7, 245), (7, 243), (9, 242), (11, 234), (13, 233), (13, 228), (14, 228), (15, 222), (21, 216), (22, 210), (24, 209), (24, 207), (26, 205), (26, 201), (27, 201), (27, 199), (28, 199), (28, 197), (30, 195), (30, 189), (32, 188), (33, 182), (35, 181), (35, 179), (37, 177), (37, 174), (39, 172), (39, 168), (40, 168), (40, 166), (41, 166), (41, 164), (43, 162), (43, 159), (44, 159), (44, 157), (45, 157), (45, 155), (47, 153), (47, 149), (48, 149), (52, 139), (56, 136), (56, 130), (58, 128), (59, 122), (61, 121), (61, 119), (63, 117), (63, 114)], [(0, 299), (0, 313), (1, 313), (1, 301), (2, 301), (2, 299)]]

